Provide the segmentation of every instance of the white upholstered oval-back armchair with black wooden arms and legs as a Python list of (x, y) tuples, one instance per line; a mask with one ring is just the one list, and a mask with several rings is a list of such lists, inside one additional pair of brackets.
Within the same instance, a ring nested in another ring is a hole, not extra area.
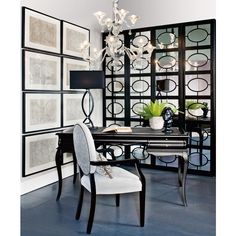
[[(144, 226), (145, 217), (145, 177), (142, 174), (138, 161), (135, 159), (128, 160), (111, 160), (98, 161), (94, 140), (88, 127), (78, 123), (73, 131), (74, 149), (77, 163), (80, 170), (80, 196), (76, 212), (76, 219), (80, 218), (83, 204), (84, 189), (91, 194), (90, 214), (87, 225), (87, 233), (91, 233), (96, 195), (114, 194), (116, 196), (116, 206), (119, 206), (119, 196), (122, 193), (139, 192), (140, 196), (140, 226)], [(133, 164), (136, 167), (137, 175), (115, 166), (116, 164)], [(109, 165), (110, 175), (102, 175), (97, 168), (107, 167)]]

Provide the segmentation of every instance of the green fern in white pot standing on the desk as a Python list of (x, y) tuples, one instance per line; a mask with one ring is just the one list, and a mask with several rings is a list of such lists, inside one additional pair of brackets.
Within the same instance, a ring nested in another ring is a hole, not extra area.
[(138, 114), (142, 116), (144, 120), (149, 120), (152, 129), (162, 129), (164, 125), (162, 113), (164, 108), (168, 106), (171, 107), (175, 113), (173, 105), (155, 100), (154, 102), (151, 101), (149, 104), (144, 105)]

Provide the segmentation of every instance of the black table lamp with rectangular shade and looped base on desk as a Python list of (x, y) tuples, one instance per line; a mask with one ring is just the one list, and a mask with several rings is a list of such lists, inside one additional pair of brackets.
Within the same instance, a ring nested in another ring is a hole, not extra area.
[[(82, 98), (82, 110), (85, 115), (84, 123), (88, 126), (91, 126), (94, 129), (93, 122), (90, 118), (93, 109), (94, 109), (94, 99), (90, 92), (90, 89), (103, 89), (105, 88), (105, 77), (104, 72), (101, 70), (94, 71), (84, 71), (76, 70), (70, 71), (70, 88), (71, 89), (86, 89), (83, 98)], [(89, 112), (86, 113), (85, 110), (85, 97), (89, 95)]]

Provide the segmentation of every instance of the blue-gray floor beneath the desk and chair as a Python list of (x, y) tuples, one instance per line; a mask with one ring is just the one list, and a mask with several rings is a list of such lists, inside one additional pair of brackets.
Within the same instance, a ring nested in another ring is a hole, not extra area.
[[(137, 194), (121, 196), (115, 207), (113, 196), (99, 196), (92, 229), (93, 235), (122, 236), (213, 236), (215, 235), (215, 178), (187, 177), (188, 207), (182, 205), (177, 173), (143, 169), (146, 177), (145, 226), (139, 227)], [(64, 179), (62, 196), (56, 202), (57, 184), (21, 197), (21, 236), (86, 235), (89, 194), (86, 193), (81, 218), (75, 210), (78, 182)]]

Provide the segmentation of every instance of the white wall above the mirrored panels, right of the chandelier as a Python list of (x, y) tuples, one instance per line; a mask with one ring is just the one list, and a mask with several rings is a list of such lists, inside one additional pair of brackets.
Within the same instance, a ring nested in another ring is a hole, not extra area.
[(120, 0), (120, 8), (141, 19), (135, 28), (216, 18), (216, 0)]

